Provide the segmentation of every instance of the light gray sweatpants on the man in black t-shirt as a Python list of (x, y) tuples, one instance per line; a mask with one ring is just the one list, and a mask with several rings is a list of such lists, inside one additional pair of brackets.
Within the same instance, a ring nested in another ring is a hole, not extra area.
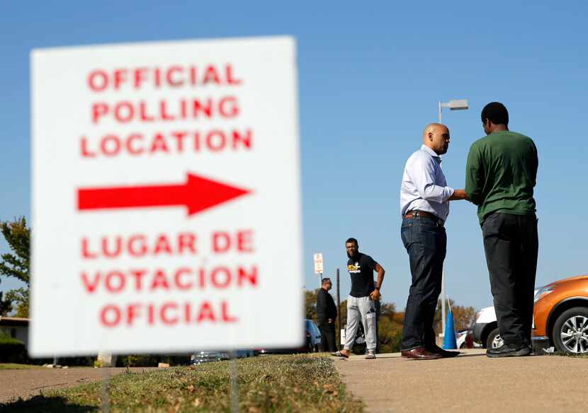
[(354, 347), (359, 322), (363, 324), (363, 331), (366, 332), (367, 349), (375, 351), (375, 303), (369, 297), (349, 296), (344, 349), (351, 350), (351, 347)]

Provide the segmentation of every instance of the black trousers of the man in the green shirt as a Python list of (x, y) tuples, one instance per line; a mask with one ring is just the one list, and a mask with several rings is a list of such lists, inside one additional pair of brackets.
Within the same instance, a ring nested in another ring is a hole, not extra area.
[(537, 272), (537, 219), (494, 213), (482, 225), (494, 310), (505, 344), (531, 344)]

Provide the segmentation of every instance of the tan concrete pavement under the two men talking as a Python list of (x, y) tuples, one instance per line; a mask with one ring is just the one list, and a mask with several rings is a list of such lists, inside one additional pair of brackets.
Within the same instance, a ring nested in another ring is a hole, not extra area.
[(368, 412), (575, 412), (585, 406), (588, 383), (587, 358), (489, 359), (485, 349), (427, 361), (351, 356), (335, 366)]

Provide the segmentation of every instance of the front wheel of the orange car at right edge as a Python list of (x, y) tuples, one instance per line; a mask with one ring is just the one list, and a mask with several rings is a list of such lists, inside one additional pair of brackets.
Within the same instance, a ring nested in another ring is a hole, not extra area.
[(551, 339), (558, 351), (588, 353), (588, 308), (574, 307), (561, 313)]

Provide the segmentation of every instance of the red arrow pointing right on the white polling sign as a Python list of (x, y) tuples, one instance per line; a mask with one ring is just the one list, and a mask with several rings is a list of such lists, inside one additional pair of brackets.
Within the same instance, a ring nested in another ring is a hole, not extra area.
[(186, 183), (180, 185), (80, 188), (78, 209), (86, 211), (184, 205), (188, 208), (188, 215), (192, 215), (249, 192), (188, 173)]

